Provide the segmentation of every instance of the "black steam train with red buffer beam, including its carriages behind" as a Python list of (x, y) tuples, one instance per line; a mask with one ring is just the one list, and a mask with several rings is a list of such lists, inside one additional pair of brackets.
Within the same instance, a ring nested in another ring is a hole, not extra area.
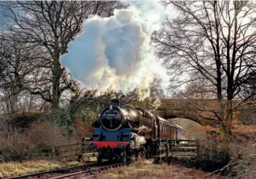
[(109, 108), (102, 111), (92, 126), (90, 143), (98, 163), (102, 159), (125, 162), (132, 156), (150, 157), (157, 152), (158, 138), (184, 138), (182, 127), (145, 109), (121, 106), (118, 99), (110, 100)]

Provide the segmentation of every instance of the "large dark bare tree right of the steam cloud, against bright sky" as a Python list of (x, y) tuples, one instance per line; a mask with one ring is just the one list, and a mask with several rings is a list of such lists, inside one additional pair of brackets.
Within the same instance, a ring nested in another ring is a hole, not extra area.
[(173, 86), (207, 80), (215, 86), (217, 100), (228, 100), (222, 105), (226, 112), (221, 110), (218, 115), (222, 133), (230, 134), (232, 100), (256, 71), (256, 5), (248, 1), (166, 5), (173, 5), (179, 16), (167, 19), (164, 27), (154, 32), (155, 52), (169, 69)]

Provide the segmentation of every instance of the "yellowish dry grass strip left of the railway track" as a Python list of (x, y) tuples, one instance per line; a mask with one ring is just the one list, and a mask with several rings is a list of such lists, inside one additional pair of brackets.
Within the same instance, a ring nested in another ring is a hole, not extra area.
[(35, 172), (61, 168), (61, 164), (45, 160), (29, 161), (24, 163), (1, 163), (0, 177), (13, 177)]

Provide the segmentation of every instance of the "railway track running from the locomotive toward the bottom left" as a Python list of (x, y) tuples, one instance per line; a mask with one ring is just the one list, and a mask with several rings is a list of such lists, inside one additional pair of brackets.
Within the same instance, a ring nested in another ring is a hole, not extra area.
[(49, 170), (49, 171), (44, 171), (44, 172), (39, 172), (39, 173), (34, 173), (34, 174), (26, 174), (22, 176), (17, 176), (17, 177), (9, 177), (9, 179), (21, 179), (21, 178), (41, 178), (41, 179), (46, 179), (46, 178), (51, 178), (51, 179), (61, 179), (61, 178), (72, 178), (76, 177), (78, 175), (82, 174), (94, 174), (95, 172), (102, 171), (102, 170), (107, 170), (109, 168), (115, 168), (118, 166), (124, 166), (128, 165), (131, 162), (128, 163), (109, 163), (105, 162), (102, 164), (97, 164), (97, 163), (89, 163), (81, 166), (71, 166), (67, 168), (61, 168), (58, 170)]

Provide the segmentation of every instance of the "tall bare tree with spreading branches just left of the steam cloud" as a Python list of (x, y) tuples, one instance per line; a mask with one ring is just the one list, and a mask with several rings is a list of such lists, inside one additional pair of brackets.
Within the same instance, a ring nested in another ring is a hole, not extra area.
[(121, 2), (74, 2), (74, 1), (28, 1), (2, 2), (4, 28), (9, 35), (18, 35), (13, 41), (36, 48), (40, 54), (32, 64), (38, 75), (20, 81), (23, 88), (50, 102), (58, 108), (61, 94), (72, 89), (73, 80), (61, 65), (60, 57), (68, 52), (68, 44), (83, 30), (83, 21), (90, 14), (110, 16), (115, 8), (124, 7)]

